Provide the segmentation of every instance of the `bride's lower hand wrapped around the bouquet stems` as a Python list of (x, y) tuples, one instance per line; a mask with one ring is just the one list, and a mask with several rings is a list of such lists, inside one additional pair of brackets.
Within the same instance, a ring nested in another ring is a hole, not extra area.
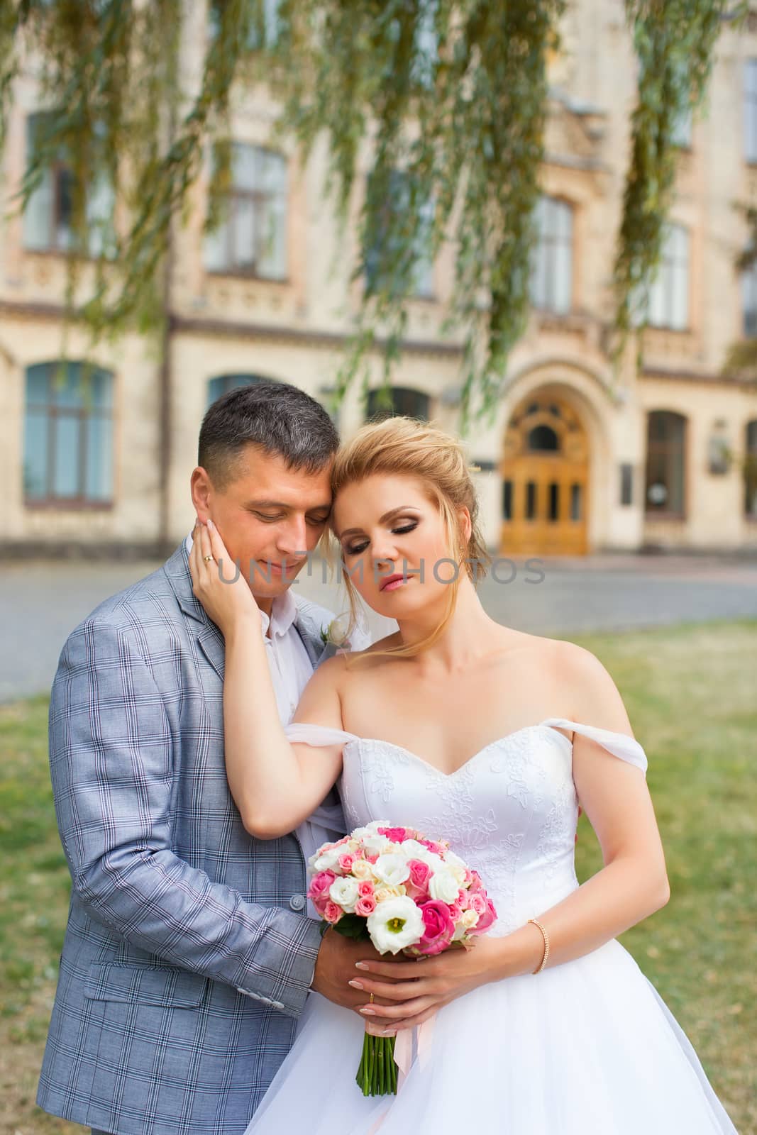
[[(378, 1035), (422, 1025), (443, 1006), (486, 982), (504, 976), (495, 940), (477, 939), (470, 949), (447, 950), (412, 961), (365, 961), (355, 980), (367, 1000), (358, 1011)], [(370, 994), (379, 1001), (370, 1002)]]

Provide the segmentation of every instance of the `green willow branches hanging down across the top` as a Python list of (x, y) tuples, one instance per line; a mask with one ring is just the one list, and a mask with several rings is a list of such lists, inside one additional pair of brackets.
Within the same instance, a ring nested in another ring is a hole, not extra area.
[[(462, 426), (491, 415), (528, 312), (545, 60), (557, 50), (563, 10), (564, 0), (210, 0), (207, 9), (186, 0), (5, 0), (0, 137), (28, 62), (49, 114), (20, 204), (64, 155), (73, 171), (69, 312), (93, 339), (165, 326), (169, 249), (190, 190), (212, 152), (212, 228), (229, 186), (232, 95), (264, 79), (283, 108), (277, 129), (303, 157), (327, 138), (327, 192), (345, 224), (360, 201), (361, 301), (335, 402), (359, 376), (367, 387), (377, 351), (388, 381), (419, 264), (451, 244), (445, 329), (462, 340)], [(626, 11), (639, 102), (615, 267), (621, 347), (659, 258), (676, 116), (701, 100), (725, 0), (626, 0)], [(180, 64), (197, 47), (202, 65), (188, 75)], [(117, 201), (107, 217), (93, 217), (93, 185), (110, 186)]]

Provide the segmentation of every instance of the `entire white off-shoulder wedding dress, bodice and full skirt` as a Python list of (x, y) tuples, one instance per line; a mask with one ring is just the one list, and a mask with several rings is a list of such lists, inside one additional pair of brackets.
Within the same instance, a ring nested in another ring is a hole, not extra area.
[[(508, 934), (579, 885), (572, 745), (598, 741), (642, 773), (625, 734), (548, 717), (445, 775), (387, 741), (292, 724), (292, 741), (344, 741), (347, 826), (371, 819), (448, 839), (476, 867)], [(317, 754), (313, 751), (313, 759)], [(613, 939), (574, 961), (489, 983), (436, 1016), (396, 1096), (355, 1084), (363, 1022), (311, 993), (246, 1135), (735, 1135), (685, 1034)]]

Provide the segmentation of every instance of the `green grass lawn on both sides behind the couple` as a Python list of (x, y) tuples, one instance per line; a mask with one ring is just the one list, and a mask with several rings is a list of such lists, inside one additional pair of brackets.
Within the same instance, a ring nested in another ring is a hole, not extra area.
[[(740, 1135), (757, 1135), (757, 623), (575, 641), (614, 676), (647, 750), (667, 857), (671, 901), (623, 944), (688, 1033)], [(34, 1107), (69, 888), (47, 699), (0, 706), (0, 1135), (73, 1135), (82, 1128)], [(600, 866), (581, 817), (579, 878)]]

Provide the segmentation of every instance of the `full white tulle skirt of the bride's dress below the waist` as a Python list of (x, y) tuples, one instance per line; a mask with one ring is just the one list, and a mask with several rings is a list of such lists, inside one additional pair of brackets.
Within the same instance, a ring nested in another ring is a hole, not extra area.
[(363, 1025), (311, 994), (247, 1135), (734, 1135), (685, 1034), (617, 941), (441, 1009), (396, 1096), (364, 1098)]

